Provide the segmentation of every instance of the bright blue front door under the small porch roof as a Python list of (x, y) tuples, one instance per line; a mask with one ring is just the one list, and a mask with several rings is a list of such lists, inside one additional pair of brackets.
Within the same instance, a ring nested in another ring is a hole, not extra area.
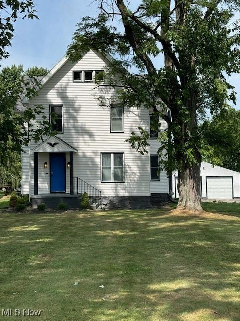
[(66, 192), (66, 155), (50, 154), (50, 192)]

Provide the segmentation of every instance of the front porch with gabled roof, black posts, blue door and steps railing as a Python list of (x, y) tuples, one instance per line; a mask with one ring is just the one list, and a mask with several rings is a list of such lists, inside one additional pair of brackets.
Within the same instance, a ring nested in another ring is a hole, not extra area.
[(91, 204), (101, 206), (101, 191), (74, 177), (74, 153), (77, 150), (58, 137), (49, 137), (33, 149), (33, 208), (40, 203), (49, 208), (59, 203), (78, 208), (84, 192)]

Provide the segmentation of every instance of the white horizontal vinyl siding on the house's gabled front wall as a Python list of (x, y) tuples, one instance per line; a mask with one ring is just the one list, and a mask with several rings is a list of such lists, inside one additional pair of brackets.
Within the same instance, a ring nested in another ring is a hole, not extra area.
[[(49, 117), (50, 104), (64, 106), (64, 133), (59, 137), (77, 150), (74, 153), (74, 177), (79, 177), (99, 189), (102, 195), (149, 196), (150, 156), (149, 154), (140, 155), (125, 142), (132, 131), (138, 134), (138, 127), (146, 130), (149, 128), (149, 111), (144, 108), (124, 107), (124, 132), (112, 134), (109, 130), (110, 108), (99, 106), (96, 96), (104, 95), (110, 100), (114, 96), (114, 89), (96, 88), (94, 82), (72, 81), (74, 70), (89, 70), (89, 66), (92, 70), (104, 70), (106, 64), (107, 61), (93, 51), (89, 51), (79, 62), (67, 61), (40, 89), (39, 95), (30, 101), (30, 105), (43, 105), (47, 117)], [(36, 120), (38, 119), (41, 117), (38, 116)], [(31, 150), (39, 144), (41, 141), (37, 144), (32, 142)], [(125, 184), (101, 182), (101, 152), (124, 152)], [(69, 157), (68, 155), (67, 153), (66, 156)], [(44, 168), (41, 168), (42, 170), (44, 171)], [(33, 153), (31, 173), (31, 193), (33, 194)], [(46, 173), (49, 175), (49, 172)], [(68, 182), (66, 178), (66, 184)], [(41, 189), (41, 191), (49, 193), (47, 189)], [(69, 193), (68, 189), (67, 193)]]

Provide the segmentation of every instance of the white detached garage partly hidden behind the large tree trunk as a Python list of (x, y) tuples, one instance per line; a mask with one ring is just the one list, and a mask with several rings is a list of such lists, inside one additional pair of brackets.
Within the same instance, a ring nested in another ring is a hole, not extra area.
[[(173, 173), (173, 198), (178, 198), (177, 171)], [(207, 199), (240, 198), (240, 173), (201, 162), (201, 194)]]

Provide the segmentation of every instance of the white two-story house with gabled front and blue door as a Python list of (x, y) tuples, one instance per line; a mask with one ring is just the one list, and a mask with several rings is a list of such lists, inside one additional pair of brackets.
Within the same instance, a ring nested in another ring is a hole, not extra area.
[[(41, 79), (38, 96), (24, 99), (29, 106), (43, 105), (49, 121), (51, 113), (57, 114), (57, 135), (30, 141), (22, 152), (22, 194), (30, 195), (33, 207), (41, 202), (77, 207), (83, 192), (108, 208), (146, 208), (151, 196), (167, 199), (168, 177), (164, 171), (157, 173), (156, 133), (150, 133), (145, 155), (125, 142), (137, 127), (150, 131), (149, 110), (101, 107), (96, 99), (115, 95), (113, 88), (95, 83), (108, 59), (94, 51), (76, 63), (63, 57)], [(161, 128), (166, 129), (164, 121)]]

